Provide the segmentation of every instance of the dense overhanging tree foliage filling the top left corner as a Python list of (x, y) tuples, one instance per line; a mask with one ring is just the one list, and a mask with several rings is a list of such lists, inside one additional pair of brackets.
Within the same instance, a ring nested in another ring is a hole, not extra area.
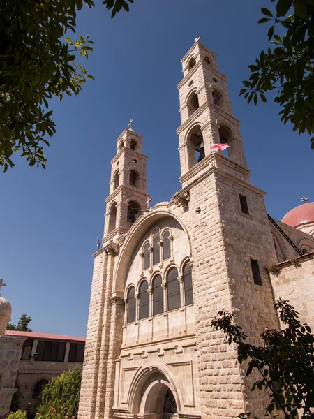
[[(128, 0), (133, 3), (133, 0)], [(56, 132), (48, 101), (78, 95), (89, 75), (75, 60), (89, 56), (89, 37), (75, 32), (76, 13), (93, 0), (1, 0), (0, 7), (0, 165), (13, 167), (20, 152), (30, 166), (45, 168), (47, 136)], [(103, 1), (112, 17), (128, 3)]]

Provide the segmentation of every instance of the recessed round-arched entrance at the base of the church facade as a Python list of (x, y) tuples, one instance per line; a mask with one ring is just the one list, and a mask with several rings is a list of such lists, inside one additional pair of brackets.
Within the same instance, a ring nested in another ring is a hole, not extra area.
[(160, 369), (150, 367), (135, 378), (133, 383), (131, 411), (140, 418), (178, 418), (180, 410), (179, 393), (172, 380)]

